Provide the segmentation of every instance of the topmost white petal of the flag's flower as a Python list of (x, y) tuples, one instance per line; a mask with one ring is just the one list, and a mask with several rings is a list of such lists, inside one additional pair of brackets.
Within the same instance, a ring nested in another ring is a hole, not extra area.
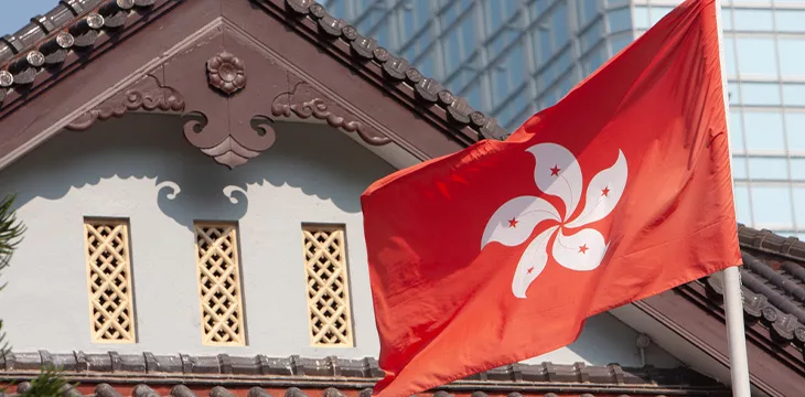
[(534, 180), (540, 191), (565, 202), (567, 219), (581, 200), (581, 168), (576, 157), (556, 143), (539, 143), (527, 149), (537, 159)]

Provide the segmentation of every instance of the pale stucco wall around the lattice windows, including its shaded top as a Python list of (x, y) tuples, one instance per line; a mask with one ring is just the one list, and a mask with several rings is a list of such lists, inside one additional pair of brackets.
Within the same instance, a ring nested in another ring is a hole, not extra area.
[[(0, 193), (18, 193), (28, 227), (0, 292), (14, 351), (376, 356), (358, 196), (393, 168), (326, 126), (277, 130), (271, 149), (230, 171), (187, 144), (178, 118), (129, 115), (63, 132), (3, 170)], [(136, 344), (90, 343), (84, 216), (130, 219)], [(245, 347), (201, 343), (194, 219), (238, 222)], [(300, 232), (308, 222), (346, 225), (353, 348), (310, 346)], [(535, 361), (640, 365), (635, 339), (602, 314), (578, 342)], [(646, 358), (676, 364), (654, 346)]]

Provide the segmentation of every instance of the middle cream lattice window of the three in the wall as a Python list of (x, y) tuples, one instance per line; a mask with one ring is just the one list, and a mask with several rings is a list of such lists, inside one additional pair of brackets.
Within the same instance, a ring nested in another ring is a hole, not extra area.
[(196, 223), (195, 248), (202, 342), (206, 345), (246, 345), (237, 227)]

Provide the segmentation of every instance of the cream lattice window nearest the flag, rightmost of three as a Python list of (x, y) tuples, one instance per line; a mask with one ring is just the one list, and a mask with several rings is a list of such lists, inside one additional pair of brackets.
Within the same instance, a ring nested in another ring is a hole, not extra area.
[(314, 346), (352, 346), (344, 228), (302, 228), (310, 340)]

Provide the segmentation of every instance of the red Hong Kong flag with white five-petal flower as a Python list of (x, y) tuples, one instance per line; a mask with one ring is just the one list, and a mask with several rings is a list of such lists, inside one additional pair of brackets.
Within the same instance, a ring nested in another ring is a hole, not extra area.
[(713, 0), (688, 0), (505, 142), (362, 196), (386, 378), (409, 396), (575, 341), (741, 262)]

